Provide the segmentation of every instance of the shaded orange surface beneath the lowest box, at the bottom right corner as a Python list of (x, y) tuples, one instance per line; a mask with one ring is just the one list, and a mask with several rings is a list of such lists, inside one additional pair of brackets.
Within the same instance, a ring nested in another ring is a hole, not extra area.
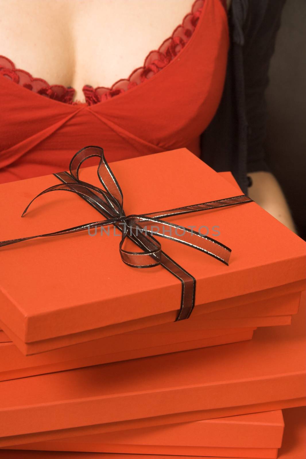
[[(305, 459), (306, 457), (306, 408), (283, 409), (285, 429), (278, 459)], [(256, 456), (253, 456), (253, 458)], [(66, 453), (50, 451), (2, 450), (1, 459), (164, 459), (158, 454), (113, 454), (113, 453)], [(198, 456), (167, 455), (169, 459), (198, 459)], [(205, 456), (206, 459), (226, 459)], [(238, 459), (236, 456), (234, 459)]]

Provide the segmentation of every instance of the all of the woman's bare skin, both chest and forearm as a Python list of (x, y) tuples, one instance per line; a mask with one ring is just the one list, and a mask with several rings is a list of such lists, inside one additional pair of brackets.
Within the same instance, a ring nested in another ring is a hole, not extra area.
[[(227, 0), (227, 6), (230, 6)], [(0, 0), (0, 54), (49, 84), (111, 87), (143, 65), (190, 11), (192, 0)], [(249, 174), (249, 196), (295, 231), (275, 177)]]

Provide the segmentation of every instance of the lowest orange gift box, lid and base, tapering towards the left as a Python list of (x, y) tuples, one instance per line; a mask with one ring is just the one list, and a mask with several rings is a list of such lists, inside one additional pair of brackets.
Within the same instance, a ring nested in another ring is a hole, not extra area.
[(30, 443), (13, 448), (41, 451), (275, 458), (282, 444), (283, 426), (282, 411), (278, 410)]

